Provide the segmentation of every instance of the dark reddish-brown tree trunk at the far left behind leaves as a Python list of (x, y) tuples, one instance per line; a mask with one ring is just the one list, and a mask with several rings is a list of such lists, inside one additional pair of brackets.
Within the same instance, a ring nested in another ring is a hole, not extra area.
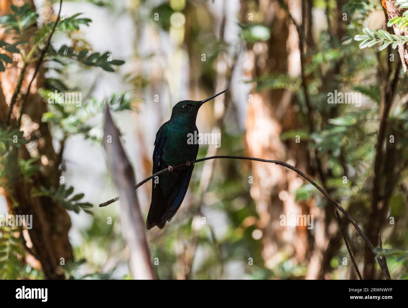
[[(25, 2), (31, 3), (34, 7), (32, 0), (1, 0), (0, 16), (10, 13), (11, 4), (21, 6)], [(12, 42), (13, 33), (6, 34), (4, 29), (0, 29), (0, 40)], [(35, 64), (32, 64), (25, 70), (21, 94), (27, 91), (28, 84), (33, 77), (34, 67)], [(2, 115), (11, 102), (21, 69), (22, 62), (19, 56), (18, 61), (7, 65), (6, 71), (0, 73), (0, 110)], [(15, 151), (7, 166), (4, 166), (10, 175), (7, 177), (9, 189), (5, 195), (8, 200), (9, 213), (33, 215), (32, 228), (27, 230), (29, 235), (29, 238), (26, 238), (27, 246), (31, 248), (27, 253), (33, 254), (40, 261), (45, 278), (64, 279), (60, 264), (66, 264), (69, 259), (73, 259), (68, 238), (71, 220), (67, 211), (58, 202), (53, 202), (49, 197), (31, 197), (30, 194), (32, 188), (39, 189), (41, 186), (58, 188), (60, 184), (59, 165), (62, 153), (55, 152), (48, 124), (41, 121), (42, 114), (47, 111), (47, 104), (37, 94), (37, 89), (41, 86), (44, 86), (42, 69), (31, 86), (25, 114), (22, 117), (22, 125), (19, 128), (24, 131), (24, 137), (30, 143), (27, 148), (22, 146), (18, 151)], [(2, 100), (3, 96), (5, 100)], [(17, 97), (11, 115), (11, 129), (18, 128), (17, 118), (19, 117), (21, 98), (22, 95)], [(7, 111), (5, 114), (7, 115)], [(6, 127), (6, 118), (4, 116), (0, 118), (2, 127)], [(18, 159), (27, 160), (31, 157), (40, 157), (36, 164), (41, 165), (42, 171), (34, 175), (31, 182), (27, 182), (19, 170)], [(16, 207), (13, 207), (14, 204), (11, 204), (10, 199), (15, 200)]]

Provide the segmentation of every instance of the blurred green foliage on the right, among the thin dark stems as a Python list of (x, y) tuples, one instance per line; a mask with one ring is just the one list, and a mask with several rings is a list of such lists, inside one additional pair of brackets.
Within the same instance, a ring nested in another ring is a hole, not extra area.
[[(314, 1), (313, 3), (316, 8), (325, 10), (325, 13), (327, 11), (333, 13), (337, 6), (336, 1)], [(407, 1), (397, 1), (396, 4), (401, 5), (401, 8), (408, 7)], [(299, 110), (299, 117), (295, 118), (299, 128), (282, 131), (281, 140), (289, 146), (290, 142), (299, 138), (301, 144), (307, 143), (309, 149), (319, 153), (319, 157), (324, 157), (324, 168), (328, 170), (326, 186), (330, 195), (341, 202), (342, 206), (352, 211), (353, 217), (361, 221), (363, 225), (366, 224), (366, 217), (370, 211), (370, 184), (373, 179), (375, 144), (379, 127), (379, 105), (383, 94), (375, 76), (378, 71), (381, 71), (381, 67), (386, 67), (386, 62), (390, 65), (391, 72), (399, 61), (399, 55), (395, 51), (392, 51), (395, 62), (389, 61), (390, 54), (386, 47), (395, 49), (398, 44), (404, 44), (407, 41), (405, 35), (397, 36), (382, 29), (374, 31), (366, 26), (371, 14), (382, 11), (381, 3), (349, 0), (341, 9), (341, 13), (347, 16), (343, 28), (345, 33), (341, 40), (337, 39), (336, 33), (329, 33), (330, 29), (324, 29), (317, 34), (313, 33), (315, 45), (308, 46), (304, 60), (306, 90), (309, 95), (310, 108), (313, 110), (313, 133), (308, 131), (307, 114), (310, 111), (306, 106), (304, 91), (299, 91), (303, 90), (300, 78), (293, 78), (286, 74), (263, 74), (251, 80), (255, 84), (255, 91), (285, 89), (295, 94), (296, 99), (292, 104), (295, 105), (295, 110)], [(405, 29), (408, 24), (406, 23), (407, 14), (408, 11), (405, 11), (402, 17), (390, 20), (388, 27), (397, 24), (400, 29)], [(328, 20), (333, 20), (333, 15), (330, 14)], [(355, 41), (362, 42), (358, 46)], [(371, 47), (377, 43), (381, 43), (378, 49), (360, 50), (360, 48)], [(339, 71), (332, 76), (331, 72), (336, 71), (338, 67)], [(390, 129), (386, 132), (386, 141), (388, 142), (390, 135), (398, 136), (395, 139), (395, 148), (401, 153), (401, 158), (399, 162), (396, 162), (398, 167), (395, 168), (402, 169), (405, 166), (404, 162), (408, 160), (408, 146), (405, 137), (408, 133), (407, 107), (404, 99), (401, 99), (407, 93), (404, 87), (407, 77), (402, 71), (396, 73), (399, 75), (400, 82), (395, 91), (398, 93), (395, 98), (396, 102), (387, 120)], [(354, 104), (328, 104), (328, 95), (335, 91), (361, 93), (361, 106), (357, 108)], [(344, 178), (344, 175), (347, 176)], [(400, 222), (405, 221), (401, 209), (406, 208), (407, 204), (406, 176), (406, 171), (401, 170), (401, 178), (397, 179), (390, 198), (390, 214), (387, 215)], [(322, 195), (309, 183), (305, 183), (292, 193), (296, 196), (296, 202), (314, 197), (319, 207), (328, 206)], [(388, 244), (395, 245), (395, 247), (406, 246), (408, 233), (405, 226), (400, 232), (391, 231), (392, 228), (395, 226), (392, 224), (388, 226), (388, 222), (384, 225), (384, 230), (392, 232), (392, 235), (387, 237)], [(364, 246), (364, 243), (361, 245)], [(405, 256), (404, 253), (398, 249), (396, 251), (401, 253), (401, 256), (399, 258), (390, 257), (391, 275), (395, 275), (395, 278), (407, 279), (408, 276), (405, 273), (408, 262), (402, 257)], [(343, 248), (340, 252), (348, 257), (347, 251)], [(384, 253), (384, 251), (381, 252)], [(389, 255), (395, 256), (397, 253)], [(339, 257), (342, 256), (339, 255), (330, 260), (333, 267), (332, 277), (337, 277), (337, 279), (341, 272)], [(285, 276), (279, 274), (279, 277)]]

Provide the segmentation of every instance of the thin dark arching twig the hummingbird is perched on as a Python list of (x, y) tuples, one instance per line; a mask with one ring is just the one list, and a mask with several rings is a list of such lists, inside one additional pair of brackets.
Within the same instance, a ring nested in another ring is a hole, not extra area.
[[(361, 237), (364, 239), (364, 241), (366, 242), (368, 248), (370, 248), (370, 250), (373, 252), (374, 255), (376, 255), (376, 259), (378, 261), (379, 266), (381, 267), (381, 270), (384, 272), (384, 274), (386, 274), (386, 270), (384, 268), (384, 266), (382, 265), (382, 261), (379, 257), (377, 257), (377, 253), (375, 252), (375, 248), (373, 246), (373, 244), (371, 244), (370, 240), (368, 239), (368, 237), (364, 234), (364, 232), (360, 229), (360, 227), (357, 225), (357, 223), (354, 221), (353, 217), (350, 216), (350, 214), (337, 202), (335, 201), (335, 199), (333, 199), (332, 197), (330, 197), (330, 195), (328, 193), (326, 193), (326, 191), (324, 191), (324, 189), (322, 187), (320, 187), (319, 185), (316, 184), (315, 181), (313, 181), (313, 179), (310, 179), (310, 177), (308, 177), (307, 175), (305, 175), (302, 171), (300, 171), (299, 169), (295, 168), (294, 166), (290, 165), (290, 164), (286, 164), (286, 162), (281, 162), (279, 160), (264, 160), (262, 158), (256, 158), (256, 157), (246, 157), (246, 156), (231, 156), (231, 155), (216, 155), (216, 156), (211, 156), (211, 157), (204, 157), (204, 158), (200, 158), (199, 160), (192, 160), (190, 163), (191, 164), (195, 164), (197, 162), (204, 162), (205, 160), (213, 160), (216, 158), (229, 158), (229, 159), (234, 159), (234, 160), (253, 160), (256, 162), (268, 162), (268, 163), (273, 163), (273, 164), (277, 164), (279, 166), (284, 166), (286, 168), (289, 168), (290, 170), (295, 171), (297, 174), (299, 174), (301, 177), (303, 177), (304, 179), (306, 179), (308, 182), (310, 182), (310, 184), (312, 184), (313, 186), (315, 186), (317, 188), (318, 191), (320, 191), (327, 199), (329, 199), (329, 201), (331, 203), (333, 203), (333, 205), (335, 207), (337, 207), (339, 209), (339, 211), (341, 213), (343, 213), (348, 220), (350, 220), (351, 224), (353, 224), (354, 228), (357, 230), (357, 232), (359, 233), (359, 235), (361, 235)], [(181, 169), (181, 168), (186, 168), (186, 163), (177, 165), (175, 167), (173, 167), (173, 169)], [(163, 173), (169, 172), (169, 169), (163, 169), (162, 171), (156, 172), (155, 174), (152, 174), (149, 177), (146, 177), (146, 179), (144, 179), (142, 182), (140, 182), (139, 184), (137, 184), (135, 186), (135, 189), (139, 188), (140, 186), (142, 186), (144, 183), (146, 183), (147, 181), (149, 181), (149, 179), (152, 179), (155, 176), (161, 175)], [(108, 200), (106, 202), (103, 202), (101, 204), (99, 204), (100, 207), (102, 206), (107, 206), (115, 201), (118, 201), (119, 197), (115, 197), (111, 200)], [(386, 278), (388, 279), (388, 276), (386, 275)]]

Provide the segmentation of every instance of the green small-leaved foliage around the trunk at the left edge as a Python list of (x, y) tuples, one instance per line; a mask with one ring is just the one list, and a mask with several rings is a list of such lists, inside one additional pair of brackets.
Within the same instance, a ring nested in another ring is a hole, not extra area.
[[(59, 1), (58, 1), (59, 2)], [(87, 0), (100, 6), (109, 6), (108, 2)], [(38, 61), (42, 50), (45, 48), (46, 42), (55, 25), (52, 22), (40, 22), (39, 14), (31, 7), (28, 2), (20, 7), (11, 6), (11, 13), (0, 16), (1, 27), (5, 33), (12, 33), (15, 41), (13, 44), (1, 41), (0, 42), (0, 71), (8, 69), (11, 64), (10, 53), (20, 53), (22, 65), (28, 66)], [(45, 68), (45, 85), (46, 89), (38, 89), (40, 96), (44, 98), (44, 103), (53, 99), (58, 102), (58, 95), (70, 93), (72, 91), (82, 91), (85, 89), (74, 89), (67, 80), (70, 76), (69, 66), (73, 63), (82, 64), (83, 69), (90, 67), (98, 67), (104, 71), (113, 72), (114, 68), (124, 64), (122, 60), (112, 59), (111, 53), (92, 52), (86, 41), (78, 38), (80, 27), (89, 26), (91, 19), (84, 18), (81, 13), (73, 16), (60, 18), (55, 29), (56, 32), (64, 35), (71, 44), (63, 44), (59, 49), (55, 49), (53, 44), (50, 44), (49, 49), (44, 57)], [(76, 35), (73, 35), (75, 33)], [(7, 53), (3, 53), (7, 52)], [(24, 70), (23, 70), (24, 71)], [(51, 74), (49, 74), (52, 72)], [(49, 77), (47, 77), (49, 76)], [(20, 91), (17, 87), (16, 91)], [(56, 94), (55, 94), (56, 93)], [(15, 93), (16, 97), (19, 92)], [(14, 95), (13, 95), (14, 96)], [(89, 124), (89, 120), (101, 114), (104, 104), (109, 104), (113, 111), (122, 111), (131, 109), (131, 94), (130, 93), (115, 93), (105, 100), (97, 100), (93, 97), (85, 98), (86, 102), (82, 108), (77, 108), (75, 104), (49, 104), (49, 111), (43, 114), (43, 122), (48, 122), (53, 126), (53, 130), (58, 132), (61, 139), (61, 144), (65, 140), (75, 134), (82, 134), (85, 138), (100, 141), (101, 125), (96, 127)], [(79, 102), (82, 104), (82, 100)], [(9, 157), (13, 157), (16, 149), (21, 147), (21, 144), (27, 144), (28, 140), (23, 137), (23, 131), (18, 130), (3, 130), (0, 129), (0, 181), (1, 186), (5, 191), (9, 191), (7, 179), (10, 175), (5, 173), (4, 166), (9, 164)], [(34, 177), (40, 176), (42, 166), (40, 157), (31, 157), (29, 159), (18, 160), (18, 168), (24, 181), (33, 182)], [(15, 176), (15, 175), (13, 175)], [(83, 193), (74, 193), (73, 186), (50, 187), (32, 187), (31, 197), (48, 197), (53, 202), (58, 202), (67, 210), (75, 213), (84, 211), (88, 214), (93, 214), (90, 211), (92, 204), (83, 202)], [(13, 200), (13, 194), (8, 193), (11, 198), (11, 204), (18, 206)], [(106, 223), (105, 223), (106, 224)], [(22, 242), (21, 229), (17, 227), (1, 226), (0, 229), (0, 279), (42, 279), (41, 270), (32, 268), (26, 262), (26, 248)], [(30, 252), (31, 253), (31, 252)], [(73, 279), (109, 279), (114, 271), (111, 269), (105, 273), (95, 271), (93, 273), (79, 273), (78, 268), (83, 264), (83, 261), (74, 262), (65, 266), (67, 278)], [(38, 267), (38, 265), (36, 265)]]

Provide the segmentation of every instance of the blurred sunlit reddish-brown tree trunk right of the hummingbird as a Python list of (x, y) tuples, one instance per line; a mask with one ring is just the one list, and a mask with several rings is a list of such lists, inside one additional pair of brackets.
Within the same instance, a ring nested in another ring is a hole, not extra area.
[[(297, 3), (293, 3), (297, 2)], [(248, 20), (248, 4), (242, 4), (242, 20)], [(290, 7), (298, 17), (300, 1), (292, 1)], [(296, 11), (298, 10), (298, 11)], [(245, 75), (252, 79), (265, 74), (290, 74), (299, 76), (299, 41), (296, 28), (277, 2), (259, 1), (257, 13), (271, 31), (268, 42), (247, 44), (247, 60), (253, 63)], [(255, 15), (255, 13), (254, 13)], [(254, 20), (254, 22), (256, 22)], [(251, 23), (249, 21), (248, 23)], [(308, 153), (304, 141), (282, 142), (282, 131), (299, 128), (294, 110), (295, 96), (286, 89), (266, 89), (249, 97), (246, 118), (246, 144), (248, 156), (271, 160), (283, 160), (297, 168), (308, 171)], [(287, 153), (287, 154), (285, 154)], [(295, 202), (293, 192), (303, 181), (296, 173), (280, 166), (252, 162), (253, 184), (251, 196), (259, 215), (257, 226), (263, 231), (262, 256), (267, 268), (274, 268), (289, 255), (295, 263), (306, 263), (308, 255), (308, 232), (306, 226), (296, 228), (280, 226), (280, 215), (308, 214), (306, 203)], [(279, 253), (284, 250), (284, 253)]]

